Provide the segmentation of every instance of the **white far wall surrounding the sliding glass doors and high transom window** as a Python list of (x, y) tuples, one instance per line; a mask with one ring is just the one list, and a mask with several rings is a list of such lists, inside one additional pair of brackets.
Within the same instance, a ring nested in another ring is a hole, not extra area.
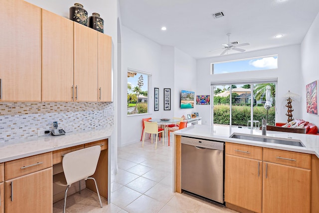
[[(278, 77), (278, 88), (276, 92), (276, 122), (286, 122), (287, 102), (285, 98), (282, 98), (282, 96), (285, 95), (288, 90), (302, 95), (300, 93), (300, 49), (300, 45), (292, 45), (197, 60), (197, 93), (199, 95), (210, 94), (211, 81)], [(230, 61), (275, 54), (278, 54), (278, 69), (210, 75), (210, 63), (213, 62)], [(300, 118), (302, 116), (300, 98), (295, 99), (295, 101), (292, 103), (292, 106), (294, 108), (293, 116), (295, 118)], [(197, 111), (199, 116), (202, 117), (203, 124), (209, 124), (211, 122), (209, 106), (197, 106)]]

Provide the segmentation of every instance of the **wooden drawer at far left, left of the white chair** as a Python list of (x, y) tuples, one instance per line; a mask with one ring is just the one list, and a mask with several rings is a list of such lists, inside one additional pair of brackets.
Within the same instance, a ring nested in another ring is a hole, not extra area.
[(4, 162), (5, 180), (52, 167), (52, 152)]

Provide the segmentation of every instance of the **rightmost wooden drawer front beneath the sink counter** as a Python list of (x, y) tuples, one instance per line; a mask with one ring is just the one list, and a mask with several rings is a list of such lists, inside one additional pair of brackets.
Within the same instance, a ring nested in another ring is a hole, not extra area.
[(264, 161), (311, 169), (311, 154), (264, 148)]

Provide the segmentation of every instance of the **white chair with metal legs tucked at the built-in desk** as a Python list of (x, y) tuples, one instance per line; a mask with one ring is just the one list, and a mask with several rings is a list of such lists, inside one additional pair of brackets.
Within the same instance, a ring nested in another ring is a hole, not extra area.
[[(94, 178), (89, 177), (95, 173), (96, 166), (98, 164), (98, 160), (100, 157), (100, 153), (101, 153), (100, 146), (91, 146), (88, 148), (76, 150), (74, 152), (69, 152), (63, 156), (62, 166), (63, 166), (64, 172), (53, 176), (53, 183), (56, 183), (60, 186), (66, 186), (66, 190), (64, 193), (63, 213), (65, 213), (66, 196), (67, 196), (69, 187), (73, 183), (76, 183), (83, 179), (94, 180), (101, 208), (103, 207), (96, 181)], [(80, 188), (80, 191), (81, 191), (81, 188)]]

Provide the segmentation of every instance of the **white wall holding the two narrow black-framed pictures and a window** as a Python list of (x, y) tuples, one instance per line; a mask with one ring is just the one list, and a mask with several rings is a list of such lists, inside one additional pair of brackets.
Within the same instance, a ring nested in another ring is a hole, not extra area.
[[(191, 110), (181, 110), (180, 90), (195, 91), (196, 60), (182, 51), (160, 44), (121, 26), (122, 33), (122, 86), (121, 86), (121, 139), (119, 146), (134, 143), (141, 139), (142, 118), (170, 118), (180, 117)], [(128, 68), (152, 73), (149, 82), (149, 113), (141, 115), (127, 115), (127, 71)], [(160, 110), (154, 111), (154, 88), (160, 89)], [(164, 109), (163, 89), (171, 89), (170, 110)]]

